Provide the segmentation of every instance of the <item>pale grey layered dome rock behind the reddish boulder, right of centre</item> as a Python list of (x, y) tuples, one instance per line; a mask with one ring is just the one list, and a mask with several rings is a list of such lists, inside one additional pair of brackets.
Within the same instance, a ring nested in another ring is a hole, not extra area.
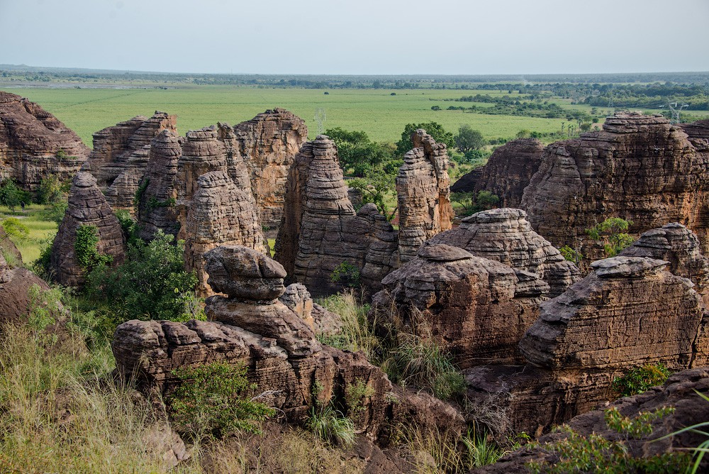
[(549, 296), (561, 294), (579, 280), (579, 269), (559, 250), (532, 231), (521, 209), (490, 209), (466, 217), (460, 226), (437, 234), (430, 243), (445, 243), (473, 255), (532, 272), (549, 284)]

